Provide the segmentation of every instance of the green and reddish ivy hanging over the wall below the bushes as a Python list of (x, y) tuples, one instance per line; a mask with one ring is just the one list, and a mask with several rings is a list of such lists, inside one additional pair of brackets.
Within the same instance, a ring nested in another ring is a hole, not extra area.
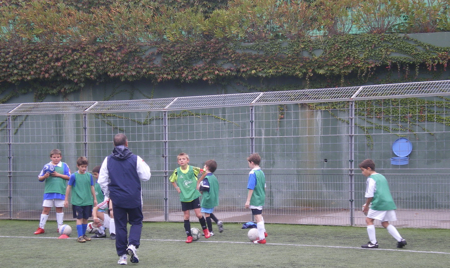
[(34, 92), (39, 101), (49, 94), (66, 95), (80, 90), (86, 83), (117, 78), (229, 84), (239, 79), (296, 77), (306, 79), (304, 88), (317, 88), (323, 83), (329, 87), (347, 86), (352, 79), (361, 84), (382, 68), (392, 75), (401, 72), (403, 81), (418, 80), (424, 72), (442, 74), (448, 66), (449, 53), (450, 48), (393, 34), (252, 44), (220, 40), (146, 46), (120, 41), (4, 44), (0, 48), (0, 87), (5, 90), (11, 85), (22, 86), (7, 93), (0, 102), (27, 92)]

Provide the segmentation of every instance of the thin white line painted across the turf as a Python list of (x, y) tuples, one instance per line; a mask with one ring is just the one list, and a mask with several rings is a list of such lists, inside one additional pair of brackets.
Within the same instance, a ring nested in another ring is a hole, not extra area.
[[(44, 239), (58, 239), (58, 237), (18, 237), (18, 236), (0, 236), (5, 238), (44, 238)], [(94, 238), (99, 240), (105, 240), (104, 238)], [(162, 241), (162, 242), (184, 242), (184, 240), (176, 240), (176, 239), (143, 239), (143, 241)], [(233, 241), (195, 241), (195, 243), (229, 243), (229, 244), (253, 244), (251, 242), (233, 242)], [(354, 246), (320, 246), (320, 245), (302, 245), (302, 244), (279, 244), (279, 243), (266, 243), (266, 245), (273, 246), (312, 246), (312, 247), (329, 247), (329, 248), (348, 248), (348, 249), (357, 249), (357, 250), (387, 250), (387, 251), (401, 251), (401, 252), (414, 252), (414, 253), (432, 253), (432, 254), (450, 254), (450, 252), (441, 252), (441, 251), (420, 251), (420, 250), (395, 250), (395, 249), (383, 249), (383, 248), (373, 248), (373, 249), (365, 249), (361, 247)]]

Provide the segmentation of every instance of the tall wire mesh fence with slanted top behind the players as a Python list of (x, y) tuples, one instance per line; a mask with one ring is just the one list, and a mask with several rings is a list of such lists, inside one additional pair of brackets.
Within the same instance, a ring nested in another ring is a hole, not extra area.
[[(220, 205), (228, 222), (244, 209), (252, 152), (261, 154), (270, 223), (363, 225), (365, 177), (372, 158), (387, 177), (399, 227), (450, 228), (450, 81), (255, 92), (130, 101), (0, 105), (0, 218), (38, 219), (37, 176), (58, 148), (71, 171), (86, 156), (102, 163), (123, 132), (149, 164), (143, 183), (148, 221), (182, 221), (168, 182), (185, 152), (190, 164), (218, 163)], [(71, 219), (67, 213), (65, 219)], [(54, 219), (50, 214), (50, 219)], [(194, 220), (194, 219), (193, 219)]]

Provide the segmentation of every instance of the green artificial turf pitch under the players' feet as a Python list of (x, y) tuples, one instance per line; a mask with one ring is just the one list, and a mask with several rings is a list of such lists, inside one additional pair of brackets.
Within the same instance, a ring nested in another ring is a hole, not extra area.
[[(116, 266), (115, 242), (93, 239), (76, 242), (75, 222), (68, 239), (56, 239), (56, 222), (48, 221), (45, 233), (33, 234), (38, 221), (0, 220), (1, 267), (103, 268)], [(192, 227), (200, 228), (198, 222)], [(252, 267), (450, 267), (450, 230), (399, 228), (407, 240), (398, 249), (384, 228), (377, 228), (379, 249), (362, 249), (366, 228), (266, 224), (267, 244), (252, 244), (242, 224), (225, 223), (214, 237), (186, 244), (183, 223), (144, 222), (139, 263), (148, 268), (252, 268)], [(108, 232), (107, 232), (108, 233)], [(109, 237), (109, 234), (108, 234)]]

